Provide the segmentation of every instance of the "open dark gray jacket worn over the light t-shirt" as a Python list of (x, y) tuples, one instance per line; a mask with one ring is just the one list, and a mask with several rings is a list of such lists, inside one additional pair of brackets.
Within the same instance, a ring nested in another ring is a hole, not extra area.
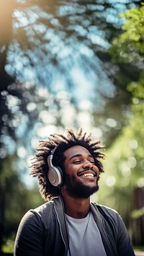
[[(125, 224), (116, 211), (91, 203), (91, 213), (107, 256), (135, 255)], [(14, 256), (66, 256), (68, 234), (64, 218), (60, 198), (28, 211), (19, 224)]]

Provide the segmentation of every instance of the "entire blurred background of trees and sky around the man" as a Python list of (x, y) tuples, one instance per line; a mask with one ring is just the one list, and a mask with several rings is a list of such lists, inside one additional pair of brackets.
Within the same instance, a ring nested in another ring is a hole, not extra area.
[(30, 159), (66, 127), (106, 145), (91, 200), (144, 245), (144, 5), (133, 0), (0, 0), (0, 247), (45, 203)]

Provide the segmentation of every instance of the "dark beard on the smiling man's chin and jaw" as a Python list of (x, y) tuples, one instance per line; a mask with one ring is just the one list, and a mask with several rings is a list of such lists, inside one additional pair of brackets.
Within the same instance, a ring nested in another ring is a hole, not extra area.
[(96, 185), (94, 187), (89, 187), (79, 181), (75, 180), (75, 177), (70, 177), (70, 175), (65, 175), (64, 185), (69, 195), (73, 198), (89, 198), (90, 195), (96, 193), (99, 190), (98, 185), (99, 177), (96, 180)]

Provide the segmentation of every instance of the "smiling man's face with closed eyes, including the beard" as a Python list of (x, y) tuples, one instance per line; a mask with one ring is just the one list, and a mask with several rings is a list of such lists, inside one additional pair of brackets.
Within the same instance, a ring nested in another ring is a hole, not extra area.
[(73, 198), (89, 198), (99, 189), (99, 169), (94, 157), (83, 146), (72, 146), (64, 152), (63, 189)]

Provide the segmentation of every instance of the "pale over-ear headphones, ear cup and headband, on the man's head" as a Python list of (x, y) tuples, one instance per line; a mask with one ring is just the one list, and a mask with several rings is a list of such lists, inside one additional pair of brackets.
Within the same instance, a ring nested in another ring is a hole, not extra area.
[(62, 185), (63, 183), (63, 172), (60, 169), (60, 167), (55, 167), (53, 166), (52, 160), (53, 160), (53, 154), (55, 153), (55, 150), (58, 149), (58, 146), (55, 146), (55, 149), (53, 149), (51, 151), (50, 156), (48, 156), (48, 180), (50, 181), (50, 183), (55, 186), (58, 187), (60, 185)]

